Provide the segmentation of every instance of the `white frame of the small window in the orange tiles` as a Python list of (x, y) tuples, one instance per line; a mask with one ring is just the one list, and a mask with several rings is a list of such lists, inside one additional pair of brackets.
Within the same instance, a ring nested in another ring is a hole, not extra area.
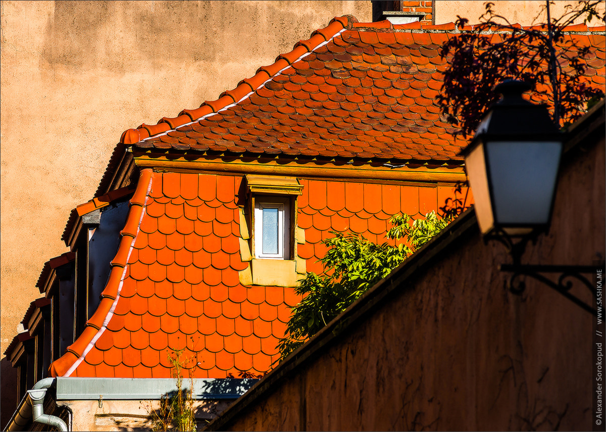
[[(278, 209), (278, 253), (263, 253), (263, 210)], [(255, 199), (255, 258), (290, 260), (290, 201), (284, 197)]]

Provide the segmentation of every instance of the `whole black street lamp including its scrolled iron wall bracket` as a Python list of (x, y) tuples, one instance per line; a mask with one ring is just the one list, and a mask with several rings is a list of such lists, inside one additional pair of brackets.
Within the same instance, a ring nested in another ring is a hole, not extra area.
[[(485, 241), (498, 240), (507, 246), (513, 263), (499, 269), (512, 273), (506, 283), (511, 292), (524, 292), (519, 277), (533, 277), (595, 315), (594, 308), (570, 292), (569, 278), (587, 286), (595, 298), (595, 288), (582, 274), (602, 266), (521, 264), (528, 241), (549, 228), (564, 143), (564, 134), (551, 121), (547, 107), (522, 98), (530, 89), (513, 80), (496, 86), (503, 97), (461, 152), (480, 231)], [(559, 274), (558, 282), (541, 273)]]

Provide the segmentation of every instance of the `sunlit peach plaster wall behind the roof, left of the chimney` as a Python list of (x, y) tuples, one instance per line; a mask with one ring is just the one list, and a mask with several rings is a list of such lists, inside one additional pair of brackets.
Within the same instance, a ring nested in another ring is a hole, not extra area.
[[(215, 100), (335, 16), (371, 20), (367, 0), (2, 1), (0, 12), (1, 353), (124, 130)], [(9, 372), (3, 363), (3, 394)], [(16, 401), (2, 401), (4, 426)]]

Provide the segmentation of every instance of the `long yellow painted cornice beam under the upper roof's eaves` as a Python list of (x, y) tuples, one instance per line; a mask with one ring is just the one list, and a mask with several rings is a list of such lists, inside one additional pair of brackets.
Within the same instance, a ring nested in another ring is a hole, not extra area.
[(465, 180), (462, 167), (410, 168), (407, 166), (389, 168), (384, 166), (370, 166), (368, 164), (338, 164), (316, 161), (291, 161), (278, 163), (275, 160), (213, 160), (196, 158), (186, 160), (184, 157), (167, 160), (163, 156), (153, 154), (138, 154), (135, 157), (137, 166), (153, 167), (157, 169), (191, 169), (204, 170), (224, 174), (261, 174), (261, 175), (289, 175), (294, 177), (322, 177), (322, 178), (362, 178), (370, 180), (401, 180), (401, 181), (441, 181), (456, 183)]

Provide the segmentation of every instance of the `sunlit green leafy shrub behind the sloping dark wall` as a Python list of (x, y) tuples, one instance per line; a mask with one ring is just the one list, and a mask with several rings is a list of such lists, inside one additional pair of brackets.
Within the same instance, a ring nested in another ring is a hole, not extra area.
[(446, 207), (442, 209), (444, 218), (439, 218), (435, 212), (416, 220), (406, 214), (392, 217), (393, 226), (386, 237), (394, 245), (388, 241), (376, 245), (361, 235), (334, 231), (335, 237), (322, 240), (329, 248), (321, 260), (324, 273), (308, 273), (296, 288), (304, 298), (292, 309), (286, 337), (278, 345), (282, 359), (358, 300), (462, 211), (460, 207), (447, 211)]

